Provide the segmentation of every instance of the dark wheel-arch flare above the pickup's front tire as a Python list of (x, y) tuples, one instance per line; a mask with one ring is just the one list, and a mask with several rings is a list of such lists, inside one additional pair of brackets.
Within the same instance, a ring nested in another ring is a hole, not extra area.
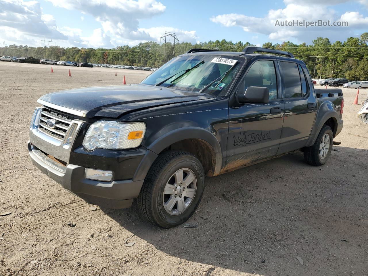
[(185, 139), (201, 139), (207, 142), (215, 153), (215, 169), (214, 175), (217, 175), (222, 167), (222, 153), (219, 142), (215, 135), (208, 130), (200, 127), (181, 127), (162, 135), (148, 146), (148, 149), (156, 154), (162, 152), (168, 146), (185, 140)]

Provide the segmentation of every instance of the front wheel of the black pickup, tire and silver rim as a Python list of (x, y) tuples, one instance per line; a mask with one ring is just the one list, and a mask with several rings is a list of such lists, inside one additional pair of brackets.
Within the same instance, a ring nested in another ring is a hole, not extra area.
[(204, 170), (199, 160), (185, 151), (164, 152), (149, 169), (138, 208), (159, 227), (175, 227), (193, 215), (203, 191)]

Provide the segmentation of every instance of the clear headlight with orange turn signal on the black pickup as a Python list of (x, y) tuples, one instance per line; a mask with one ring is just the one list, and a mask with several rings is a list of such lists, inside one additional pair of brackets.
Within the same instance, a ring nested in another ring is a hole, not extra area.
[(144, 123), (97, 121), (89, 127), (83, 140), (83, 146), (90, 151), (95, 148), (136, 148), (141, 145), (145, 131)]

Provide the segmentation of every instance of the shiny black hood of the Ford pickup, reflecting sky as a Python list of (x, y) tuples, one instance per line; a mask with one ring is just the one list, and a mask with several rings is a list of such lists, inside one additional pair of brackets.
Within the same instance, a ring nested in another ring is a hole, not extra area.
[[(40, 100), (79, 110), (86, 118), (95, 116), (117, 118), (137, 109), (208, 98), (213, 96), (162, 86), (131, 84), (68, 89), (43, 95)], [(45, 102), (42, 103), (47, 106)]]

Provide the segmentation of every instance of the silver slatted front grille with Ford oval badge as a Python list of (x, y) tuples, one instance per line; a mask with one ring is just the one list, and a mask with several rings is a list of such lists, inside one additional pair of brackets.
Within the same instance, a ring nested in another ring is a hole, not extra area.
[[(50, 127), (47, 125), (47, 120), (53, 120), (55, 125)], [(68, 114), (45, 107), (40, 114), (38, 129), (59, 141), (63, 141), (72, 120), (74, 117)]]

